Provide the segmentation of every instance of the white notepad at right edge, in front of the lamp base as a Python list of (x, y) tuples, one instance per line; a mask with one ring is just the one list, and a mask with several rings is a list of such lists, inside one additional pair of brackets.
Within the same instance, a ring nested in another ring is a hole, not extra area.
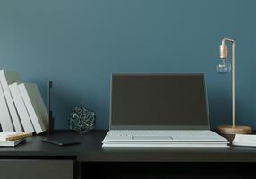
[(236, 134), (232, 144), (235, 146), (256, 147), (256, 135)]

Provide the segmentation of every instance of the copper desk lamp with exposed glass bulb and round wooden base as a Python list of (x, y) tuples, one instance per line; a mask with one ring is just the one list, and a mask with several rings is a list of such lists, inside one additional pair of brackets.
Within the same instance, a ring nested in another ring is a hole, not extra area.
[[(226, 42), (232, 44), (232, 65), (227, 59)], [(251, 133), (249, 126), (235, 125), (235, 40), (223, 38), (220, 45), (220, 61), (216, 65), (216, 71), (220, 74), (226, 74), (232, 70), (232, 125), (219, 125), (216, 132), (222, 134)]]

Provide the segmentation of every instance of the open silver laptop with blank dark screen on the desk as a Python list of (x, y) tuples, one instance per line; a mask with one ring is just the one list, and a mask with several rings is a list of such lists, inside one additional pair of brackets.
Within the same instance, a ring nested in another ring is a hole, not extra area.
[(103, 147), (227, 147), (210, 131), (203, 74), (112, 74)]

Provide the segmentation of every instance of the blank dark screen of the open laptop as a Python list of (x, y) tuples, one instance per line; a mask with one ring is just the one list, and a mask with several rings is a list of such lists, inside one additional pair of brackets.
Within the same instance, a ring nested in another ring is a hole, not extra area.
[(110, 117), (112, 129), (209, 129), (204, 76), (113, 74)]

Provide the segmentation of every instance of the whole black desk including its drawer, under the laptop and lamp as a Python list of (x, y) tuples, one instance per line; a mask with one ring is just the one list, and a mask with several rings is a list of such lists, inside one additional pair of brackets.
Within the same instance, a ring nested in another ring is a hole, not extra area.
[[(38, 179), (86, 178), (90, 173), (105, 178), (254, 175), (256, 148), (103, 149), (101, 141), (106, 132), (78, 135), (71, 131), (56, 131), (53, 135), (81, 141), (75, 146), (55, 146), (36, 136), (15, 148), (0, 148), (0, 178), (23, 175), (29, 179), (28, 172), (30, 176), (37, 175)], [(11, 173), (11, 169), (16, 171)]]

